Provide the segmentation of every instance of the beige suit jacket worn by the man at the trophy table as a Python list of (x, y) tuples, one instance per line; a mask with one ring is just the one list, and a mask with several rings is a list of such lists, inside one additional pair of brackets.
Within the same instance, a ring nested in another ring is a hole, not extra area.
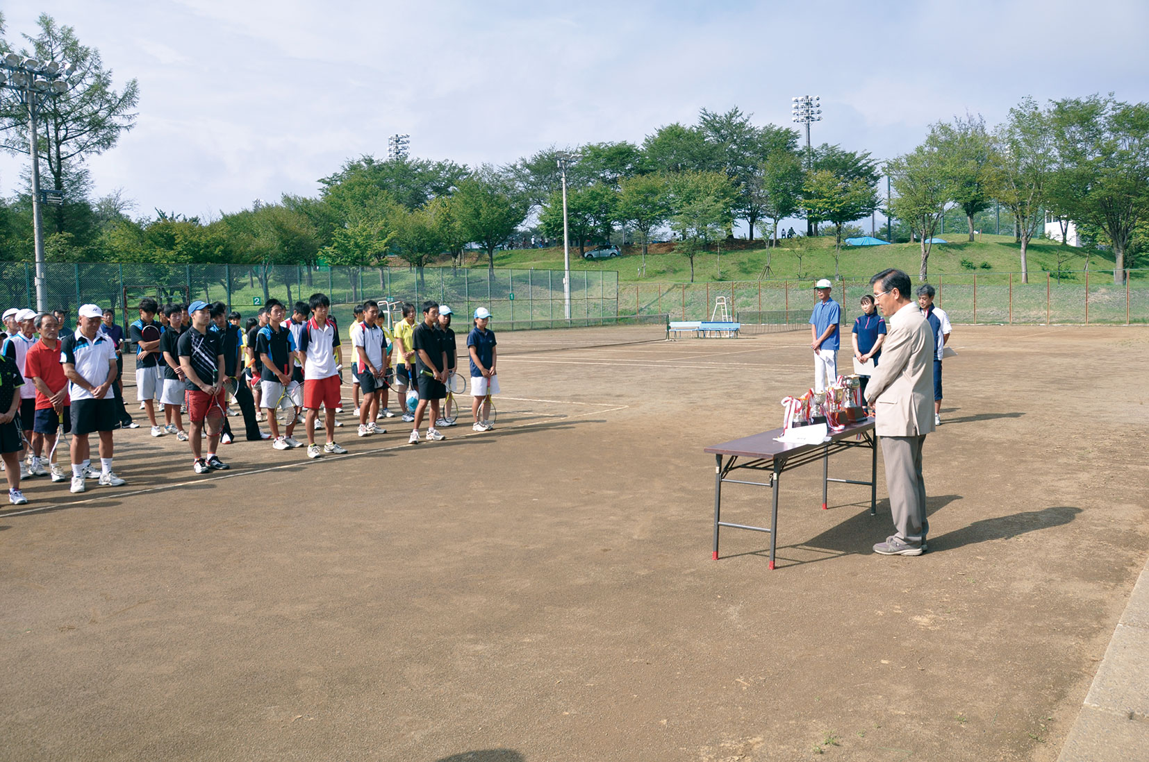
[(933, 348), (930, 324), (915, 303), (886, 320), (880, 364), (866, 384), (878, 436), (920, 436), (933, 426)]

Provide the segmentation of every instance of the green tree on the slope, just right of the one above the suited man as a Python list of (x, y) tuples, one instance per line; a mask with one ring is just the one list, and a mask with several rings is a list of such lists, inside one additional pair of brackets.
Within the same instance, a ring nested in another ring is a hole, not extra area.
[(955, 118), (931, 126), (926, 143), (939, 155), (953, 197), (965, 212), (970, 241), (973, 241), (974, 215), (993, 205), (992, 182), (994, 141), (981, 116)]

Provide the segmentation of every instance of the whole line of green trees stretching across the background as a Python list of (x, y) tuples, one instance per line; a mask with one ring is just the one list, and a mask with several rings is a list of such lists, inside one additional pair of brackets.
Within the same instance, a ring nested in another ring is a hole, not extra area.
[[(2, 38), (0, 52), (14, 49)], [(632, 236), (642, 247), (663, 231), (691, 261), (745, 223), (749, 238), (777, 244), (780, 221), (804, 218), (808, 230), (835, 236), (835, 270), (847, 226), (882, 211), (921, 242), (925, 279), (931, 239), (947, 210), (970, 220), (992, 204), (1017, 220), (1023, 272), (1026, 247), (1046, 213), (1074, 220), (1113, 249), (1115, 278), (1131, 264), (1149, 208), (1149, 107), (1112, 95), (1067, 99), (1046, 108), (1032, 99), (988, 129), (967, 116), (931, 126), (912, 151), (885, 164), (869, 151), (838, 145), (804, 150), (789, 127), (757, 125), (732, 108), (702, 109), (695, 124), (658, 127), (641, 143), (550, 146), (506, 165), (470, 168), (449, 160), (364, 155), (319, 180), (315, 196), (284, 194), (215, 219), (155, 210), (133, 216), (119, 193), (92, 195), (87, 156), (114, 147), (132, 129), (139, 90), (114, 86), (99, 52), (80, 45), (69, 26), (43, 15), (22, 52), (76, 61), (80, 86), (44, 116), (44, 184), (62, 190), (47, 209), (49, 262), (148, 262), (377, 266), (393, 258), (422, 269), (446, 257), (462, 264), (478, 247), (493, 270), (510, 238), (563, 233), (560, 156), (566, 170), (566, 227), (579, 254), (594, 242)], [(3, 147), (25, 153), (26, 114), (13, 99), (0, 106)], [(878, 190), (888, 174), (888, 204)], [(0, 259), (30, 259), (29, 192), (0, 200)], [(836, 273), (835, 273), (836, 274)]]

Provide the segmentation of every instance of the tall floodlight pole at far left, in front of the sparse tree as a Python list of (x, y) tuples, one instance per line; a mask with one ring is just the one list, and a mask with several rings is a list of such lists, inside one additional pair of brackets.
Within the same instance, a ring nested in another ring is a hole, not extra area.
[[(48, 100), (68, 92), (68, 77), (76, 72), (76, 64), (67, 67), (56, 61), (25, 59), (18, 53), (9, 53), (0, 60), (0, 90), (9, 90), (16, 100), (28, 109), (28, 154), (32, 157), (32, 238), (36, 241), (36, 309), (48, 309), (46, 266), (44, 264), (44, 218), (40, 212), (40, 150), (37, 122)], [(53, 193), (52, 200), (61, 200)]]

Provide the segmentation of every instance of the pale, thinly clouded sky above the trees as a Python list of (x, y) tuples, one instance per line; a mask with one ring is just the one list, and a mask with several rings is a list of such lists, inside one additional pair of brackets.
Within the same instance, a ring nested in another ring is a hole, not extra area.
[[(348, 157), (502, 164), (552, 143), (641, 142), (699, 109), (789, 125), (888, 157), (966, 111), (1025, 95), (1149, 100), (1144, 0), (1009, 2), (3, 2), (7, 39), (45, 11), (98, 48), (139, 119), (90, 161), (98, 195), (218, 216), (314, 195)], [(26, 157), (0, 157), (10, 195)]]

